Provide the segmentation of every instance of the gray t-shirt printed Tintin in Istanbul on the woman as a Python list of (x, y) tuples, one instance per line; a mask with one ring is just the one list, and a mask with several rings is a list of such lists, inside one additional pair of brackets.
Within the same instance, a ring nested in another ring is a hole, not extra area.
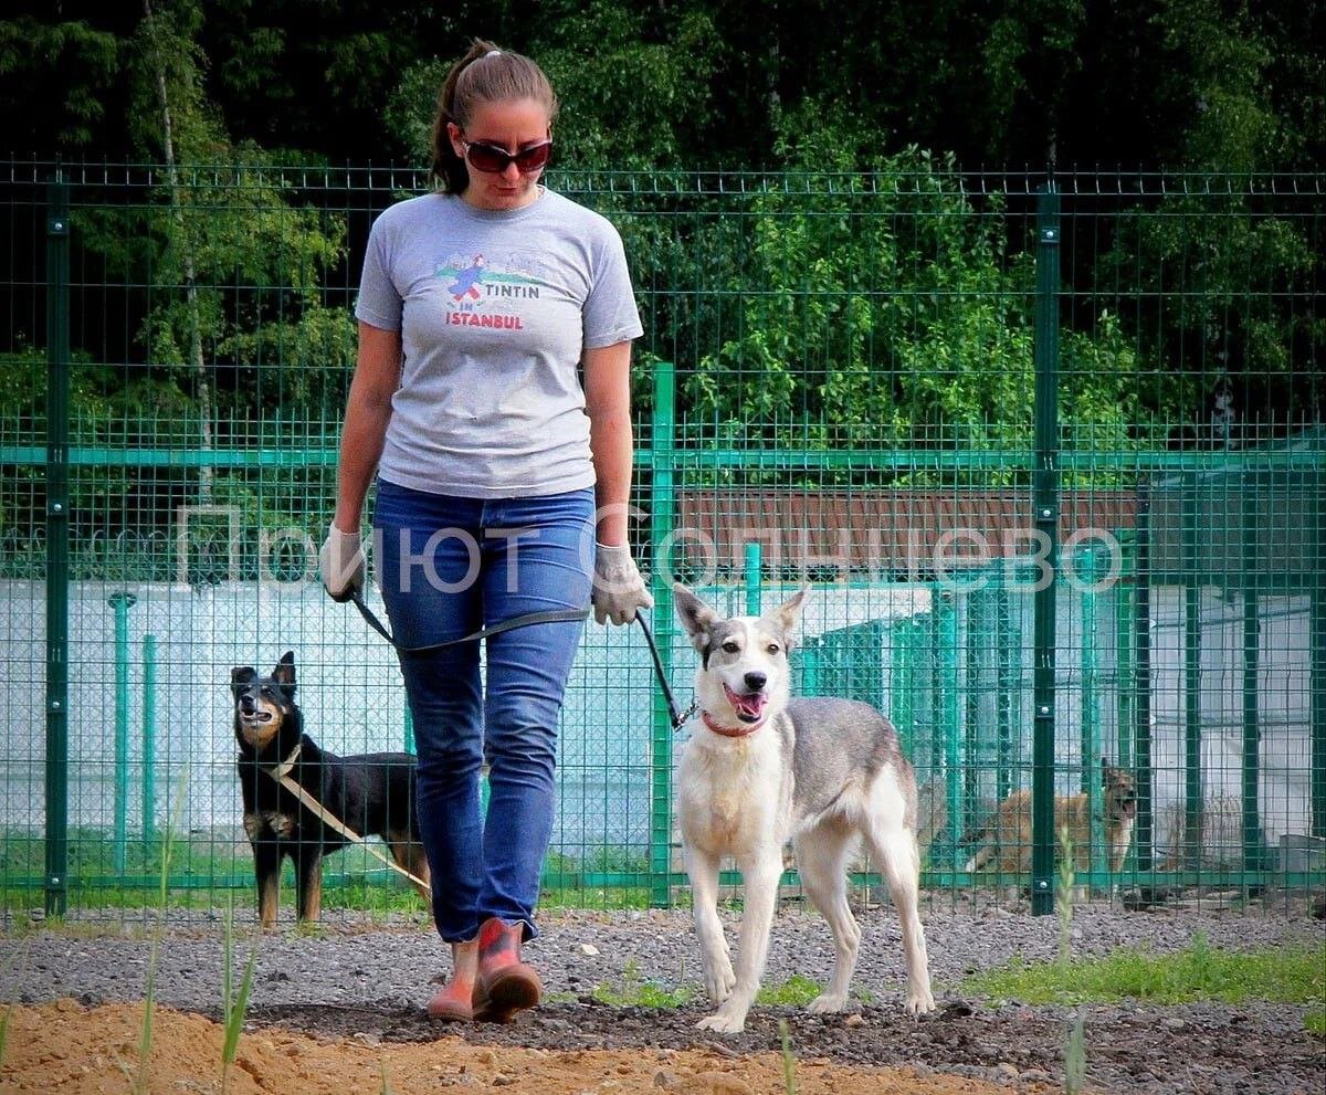
[(469, 498), (594, 484), (581, 354), (643, 333), (605, 217), (549, 190), (496, 212), (400, 202), (369, 235), (354, 314), (400, 331), (383, 479)]

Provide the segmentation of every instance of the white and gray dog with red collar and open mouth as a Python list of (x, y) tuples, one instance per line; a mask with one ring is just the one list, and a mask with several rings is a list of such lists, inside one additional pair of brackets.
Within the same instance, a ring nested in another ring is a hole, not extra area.
[[(678, 818), (691, 880), (704, 986), (717, 1011), (700, 1027), (736, 1034), (760, 988), (790, 839), (806, 893), (829, 921), (834, 970), (812, 1011), (841, 1011), (861, 928), (847, 907), (847, 863), (861, 839), (888, 880), (902, 919), (907, 1011), (935, 1010), (916, 911), (916, 778), (898, 733), (855, 700), (789, 696), (788, 648), (806, 589), (762, 616), (721, 618), (686, 586), (676, 612), (700, 655), (703, 725), (678, 762)], [(719, 866), (733, 856), (745, 883), (737, 969), (717, 913)]]

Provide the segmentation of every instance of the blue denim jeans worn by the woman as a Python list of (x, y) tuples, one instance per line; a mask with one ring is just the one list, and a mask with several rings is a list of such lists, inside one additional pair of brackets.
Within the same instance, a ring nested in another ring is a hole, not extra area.
[[(459, 498), (378, 483), (378, 581), (402, 647), (457, 639), (528, 612), (589, 605), (594, 492)], [(556, 810), (557, 720), (583, 622), (537, 623), (479, 643), (402, 654), (419, 752), (419, 823), (432, 915), (448, 943), (489, 916), (533, 912)], [(488, 814), (480, 768), (488, 764)]]

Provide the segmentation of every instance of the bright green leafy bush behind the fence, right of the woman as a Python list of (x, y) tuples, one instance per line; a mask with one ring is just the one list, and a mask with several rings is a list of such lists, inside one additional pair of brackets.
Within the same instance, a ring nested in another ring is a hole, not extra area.
[[(705, 236), (697, 281), (736, 318), (693, 339), (717, 349), (683, 373), (692, 416), (747, 445), (1028, 447), (1033, 270), (1002, 200), (977, 207), (922, 150), (866, 160), (850, 129), (792, 129), (793, 160), (823, 170), (770, 182), (748, 224)], [(1063, 357), (1069, 416), (1099, 415), (1118, 443), (1136, 371), (1118, 317)]]

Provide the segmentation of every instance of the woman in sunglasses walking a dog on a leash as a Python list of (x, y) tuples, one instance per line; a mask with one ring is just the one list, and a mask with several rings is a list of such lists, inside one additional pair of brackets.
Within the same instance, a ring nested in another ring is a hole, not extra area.
[[(630, 623), (652, 606), (626, 542), (630, 349), (621, 237), (540, 183), (557, 99), (526, 57), (479, 41), (443, 85), (439, 192), (374, 223), (324, 585), (362, 586), (374, 541), (419, 750), (419, 818), (453, 974), (443, 1019), (538, 1002), (521, 943), (553, 823), (557, 717), (582, 618), (436, 647), (533, 612)], [(583, 375), (583, 384), (579, 375)], [(591, 540), (594, 537), (594, 540)], [(479, 773), (489, 765), (487, 817)]]

